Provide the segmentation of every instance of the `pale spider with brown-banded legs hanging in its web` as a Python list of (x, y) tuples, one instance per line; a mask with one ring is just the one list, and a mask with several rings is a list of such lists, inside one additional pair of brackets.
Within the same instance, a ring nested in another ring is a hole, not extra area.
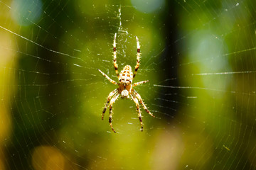
[[(132, 73), (132, 67), (129, 65), (124, 66), (124, 69), (122, 69), (122, 71), (119, 73), (118, 72), (118, 67), (117, 67), (117, 49), (116, 49), (116, 38), (117, 38), (117, 33), (114, 34), (114, 42), (113, 42), (113, 53), (114, 53), (114, 69), (115, 72), (117, 74), (117, 78), (119, 79), (119, 83), (117, 83), (116, 81), (110, 79), (110, 77), (107, 76), (107, 74), (105, 74), (104, 72), (100, 71), (99, 72), (106, 77), (112, 84), (116, 84), (118, 86), (117, 89), (114, 89), (114, 91), (111, 91), (109, 96), (107, 96), (107, 103), (105, 104), (105, 107), (103, 108), (102, 111), (102, 120), (104, 117), (104, 114), (107, 110), (107, 106), (110, 103), (110, 117), (109, 117), (109, 122), (110, 122), (110, 127), (114, 131), (114, 128), (112, 126), (112, 106), (114, 101), (117, 100), (118, 96), (121, 95), (121, 98), (129, 98), (129, 96), (132, 97), (132, 100), (134, 101), (134, 103), (136, 104), (136, 108), (137, 108), (137, 112), (138, 112), (138, 118), (141, 124), (141, 130), (143, 131), (143, 123), (142, 123), (142, 113), (140, 111), (139, 108), (139, 103), (141, 103), (142, 107), (144, 108), (144, 110), (149, 113), (149, 115), (151, 115), (152, 117), (155, 117), (152, 113), (150, 113), (149, 109), (146, 108), (146, 105), (144, 104), (144, 102), (142, 101), (142, 97), (137, 93), (137, 91), (135, 91), (133, 88), (134, 86), (138, 86), (140, 84), (144, 84), (146, 82), (148, 82), (149, 80), (146, 81), (139, 81), (137, 83), (132, 84), (132, 80), (134, 79), (135, 75), (137, 74), (137, 71), (139, 69), (139, 59), (140, 59), (140, 46), (139, 46), (139, 39), (136, 36), (136, 40), (137, 40), (137, 64), (135, 66), (134, 69), (134, 73)], [(139, 100), (139, 101), (138, 101)]]

